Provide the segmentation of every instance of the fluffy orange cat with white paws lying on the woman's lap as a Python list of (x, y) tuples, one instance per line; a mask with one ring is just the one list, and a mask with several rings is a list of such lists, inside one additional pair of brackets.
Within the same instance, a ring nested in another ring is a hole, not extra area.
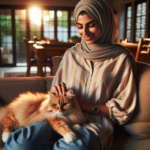
[(17, 128), (46, 119), (67, 143), (77, 139), (73, 130), (81, 130), (80, 125), (87, 122), (73, 90), (67, 91), (64, 95), (50, 91), (26, 92), (0, 108), (3, 142), (5, 143), (9, 134)]

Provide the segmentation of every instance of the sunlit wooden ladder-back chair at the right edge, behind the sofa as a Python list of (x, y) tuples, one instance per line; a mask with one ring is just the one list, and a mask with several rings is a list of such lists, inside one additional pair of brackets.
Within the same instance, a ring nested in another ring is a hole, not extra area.
[(136, 51), (135, 60), (149, 63), (150, 56), (150, 38), (140, 38)]

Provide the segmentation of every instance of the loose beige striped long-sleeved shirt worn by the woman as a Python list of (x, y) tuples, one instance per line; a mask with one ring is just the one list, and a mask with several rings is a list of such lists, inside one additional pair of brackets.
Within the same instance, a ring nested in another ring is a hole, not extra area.
[(136, 105), (136, 85), (129, 57), (121, 54), (115, 59), (99, 61), (92, 67), (89, 60), (69, 49), (52, 85), (60, 82), (66, 83), (67, 89), (73, 89), (84, 103), (107, 105), (110, 117), (85, 115), (91, 120), (86, 127), (99, 136), (102, 149), (108, 150), (113, 142), (114, 122), (126, 123)]

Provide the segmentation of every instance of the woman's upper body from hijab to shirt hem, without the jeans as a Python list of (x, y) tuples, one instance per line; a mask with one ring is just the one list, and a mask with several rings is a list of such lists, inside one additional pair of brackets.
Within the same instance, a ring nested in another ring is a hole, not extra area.
[(115, 21), (104, 1), (80, 1), (74, 18), (82, 41), (65, 53), (52, 91), (74, 90), (85, 115), (94, 122), (86, 128), (107, 150), (113, 142), (113, 122), (126, 123), (135, 108), (135, 61), (124, 47), (112, 44)]

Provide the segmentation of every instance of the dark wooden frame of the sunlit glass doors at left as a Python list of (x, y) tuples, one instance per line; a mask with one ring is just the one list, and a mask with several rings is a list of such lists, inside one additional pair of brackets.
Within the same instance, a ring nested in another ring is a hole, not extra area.
[[(29, 24), (29, 9), (33, 8), (35, 6), (29, 6), (29, 5), (0, 5), (0, 9), (10, 9), (12, 12), (12, 44), (13, 44), (13, 63), (12, 64), (2, 64), (1, 63), (1, 53), (0, 53), (0, 67), (10, 67), (10, 66), (16, 66), (17, 65), (17, 60), (16, 60), (16, 31), (15, 31), (15, 10), (16, 9), (25, 9), (26, 10), (26, 38), (30, 39), (30, 24)], [(71, 11), (74, 10), (74, 7), (64, 7), (64, 6), (37, 6), (41, 12), (41, 37), (40, 39), (44, 38), (44, 33), (43, 33), (43, 11), (44, 10), (54, 10), (55, 13), (55, 18), (54, 18), (54, 35), (57, 38), (57, 11), (67, 11), (68, 12), (68, 40), (70, 37), (70, 32), (71, 32), (71, 21), (70, 21), (70, 16), (71, 16)], [(1, 39), (0, 39), (0, 45), (1, 45)]]

